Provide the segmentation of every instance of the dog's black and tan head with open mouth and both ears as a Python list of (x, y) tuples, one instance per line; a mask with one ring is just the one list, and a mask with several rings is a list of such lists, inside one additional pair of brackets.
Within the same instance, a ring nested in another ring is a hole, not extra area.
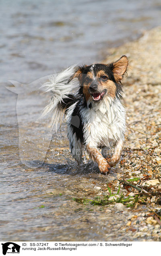
[(74, 76), (80, 81), (80, 93), (86, 101), (99, 102), (105, 96), (120, 96), (121, 80), (128, 66), (128, 58), (122, 56), (110, 64), (93, 64), (79, 67)]

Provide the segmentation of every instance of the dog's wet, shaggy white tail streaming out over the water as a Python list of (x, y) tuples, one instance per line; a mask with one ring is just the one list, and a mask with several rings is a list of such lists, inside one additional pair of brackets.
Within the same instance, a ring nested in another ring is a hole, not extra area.
[(42, 86), (47, 88), (46, 92), (52, 94), (49, 104), (42, 113), (42, 117), (52, 113), (51, 129), (55, 126), (57, 130), (65, 110), (76, 102), (76, 95), (80, 87), (77, 78), (71, 80), (74, 73), (75, 65), (58, 74), (53, 74), (49, 81)]

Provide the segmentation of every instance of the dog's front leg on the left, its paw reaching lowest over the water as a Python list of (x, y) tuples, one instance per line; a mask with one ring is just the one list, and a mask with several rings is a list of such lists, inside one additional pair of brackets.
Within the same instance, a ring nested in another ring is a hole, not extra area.
[(99, 152), (99, 150), (96, 147), (91, 147), (89, 145), (87, 145), (86, 148), (87, 153), (89, 154), (91, 159), (98, 164), (100, 172), (103, 174), (107, 174), (111, 167), (107, 163), (106, 159)]

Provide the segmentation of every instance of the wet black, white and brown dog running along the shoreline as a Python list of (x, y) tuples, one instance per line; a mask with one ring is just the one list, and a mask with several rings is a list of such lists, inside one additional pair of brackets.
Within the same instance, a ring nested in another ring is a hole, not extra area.
[[(103, 174), (118, 163), (124, 143), (126, 111), (121, 103), (121, 81), (127, 66), (126, 56), (109, 64), (71, 66), (43, 85), (52, 92), (43, 116), (52, 112), (52, 125), (57, 126), (65, 114), (73, 158), (81, 163), (86, 150)], [(104, 158), (99, 148), (110, 147), (111, 142), (114, 153)]]

